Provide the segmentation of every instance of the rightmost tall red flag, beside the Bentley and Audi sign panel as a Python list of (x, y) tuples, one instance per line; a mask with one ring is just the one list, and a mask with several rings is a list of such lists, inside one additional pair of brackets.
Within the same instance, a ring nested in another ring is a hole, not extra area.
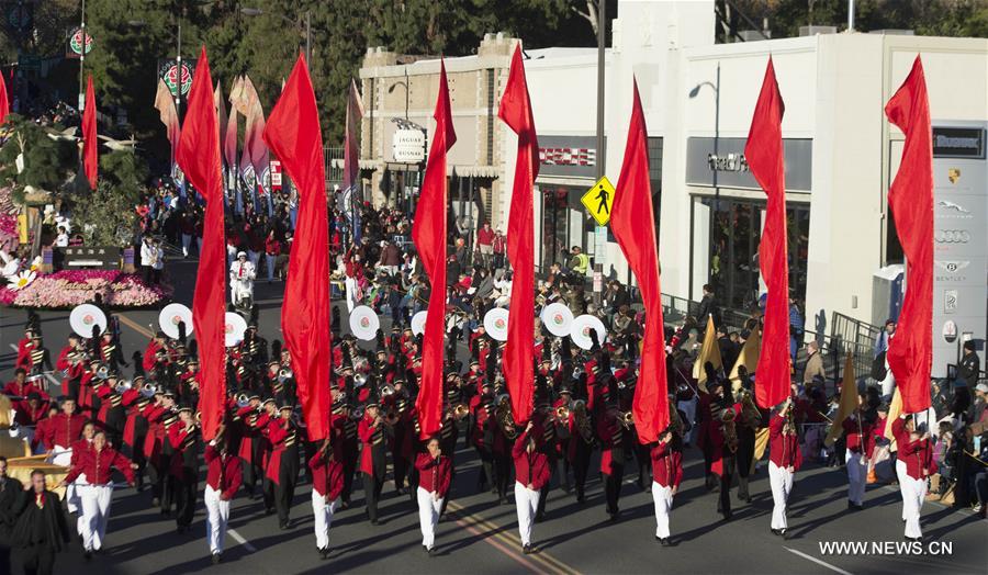
[(933, 135), (919, 55), (885, 105), (885, 115), (906, 134), (899, 172), (888, 190), (907, 280), (899, 325), (888, 343), (888, 367), (902, 393), (902, 411), (912, 414), (930, 407), (933, 365)]

